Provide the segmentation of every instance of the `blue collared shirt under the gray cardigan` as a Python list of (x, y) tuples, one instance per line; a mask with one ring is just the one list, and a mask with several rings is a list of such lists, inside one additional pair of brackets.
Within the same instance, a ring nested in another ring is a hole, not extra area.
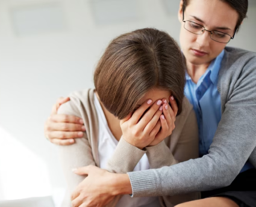
[[(200, 157), (208, 154), (221, 118), (221, 102), (220, 94), (217, 90), (217, 82), (223, 56), (224, 50), (216, 59), (211, 61), (207, 71), (200, 77), (197, 84), (186, 74), (185, 95), (196, 112), (199, 128)], [(247, 162), (241, 172), (250, 168), (253, 167), (251, 163)]]

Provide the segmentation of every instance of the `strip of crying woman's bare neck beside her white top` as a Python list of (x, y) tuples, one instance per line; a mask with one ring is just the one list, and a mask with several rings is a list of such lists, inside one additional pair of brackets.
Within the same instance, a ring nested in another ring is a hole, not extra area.
[(120, 140), (120, 137), (122, 136), (122, 130), (120, 127), (120, 120), (114, 116), (112, 113), (108, 112), (108, 110), (105, 108), (104, 104), (102, 104), (101, 100), (99, 99), (98, 93), (96, 93), (96, 97), (99, 100), (99, 103), (101, 104), (101, 108), (104, 112), (105, 118), (107, 119), (108, 127), (110, 128), (111, 133), (116, 138), (117, 141)]

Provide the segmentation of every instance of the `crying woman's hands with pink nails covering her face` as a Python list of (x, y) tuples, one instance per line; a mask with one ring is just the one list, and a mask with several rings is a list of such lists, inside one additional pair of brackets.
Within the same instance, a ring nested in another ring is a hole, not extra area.
[(154, 146), (172, 134), (178, 112), (176, 101), (171, 96), (170, 105), (166, 99), (152, 103), (148, 100), (134, 113), (120, 121), (123, 139), (137, 148)]

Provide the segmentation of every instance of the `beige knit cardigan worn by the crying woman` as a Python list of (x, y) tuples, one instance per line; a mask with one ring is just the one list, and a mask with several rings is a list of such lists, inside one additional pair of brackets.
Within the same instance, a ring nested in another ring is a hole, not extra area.
[[(83, 138), (76, 139), (73, 145), (59, 146), (59, 157), (67, 182), (67, 194), (63, 207), (70, 207), (70, 194), (86, 176), (76, 175), (73, 168), (94, 165), (99, 167), (98, 156), (98, 116), (94, 105), (94, 89), (84, 89), (69, 95), (70, 101), (58, 109), (59, 114), (75, 115), (83, 119), (86, 133)], [(108, 160), (108, 171), (126, 173), (133, 171), (140, 158), (146, 153), (151, 169), (186, 161), (198, 157), (198, 126), (195, 112), (189, 101), (184, 98), (183, 112), (176, 117), (175, 130), (158, 145), (140, 150), (120, 139), (116, 151)], [(125, 160), (125, 161), (124, 161)], [(199, 199), (199, 193), (178, 196), (159, 197), (161, 206), (174, 206), (178, 203)], [(120, 196), (109, 203), (116, 205)], [(124, 206), (125, 207), (125, 206)]]

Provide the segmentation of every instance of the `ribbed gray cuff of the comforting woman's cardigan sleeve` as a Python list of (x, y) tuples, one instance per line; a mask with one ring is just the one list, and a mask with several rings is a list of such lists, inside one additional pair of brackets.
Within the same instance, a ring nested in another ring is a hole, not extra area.
[(154, 170), (143, 170), (127, 173), (133, 194), (131, 197), (155, 196), (157, 192), (157, 183)]

